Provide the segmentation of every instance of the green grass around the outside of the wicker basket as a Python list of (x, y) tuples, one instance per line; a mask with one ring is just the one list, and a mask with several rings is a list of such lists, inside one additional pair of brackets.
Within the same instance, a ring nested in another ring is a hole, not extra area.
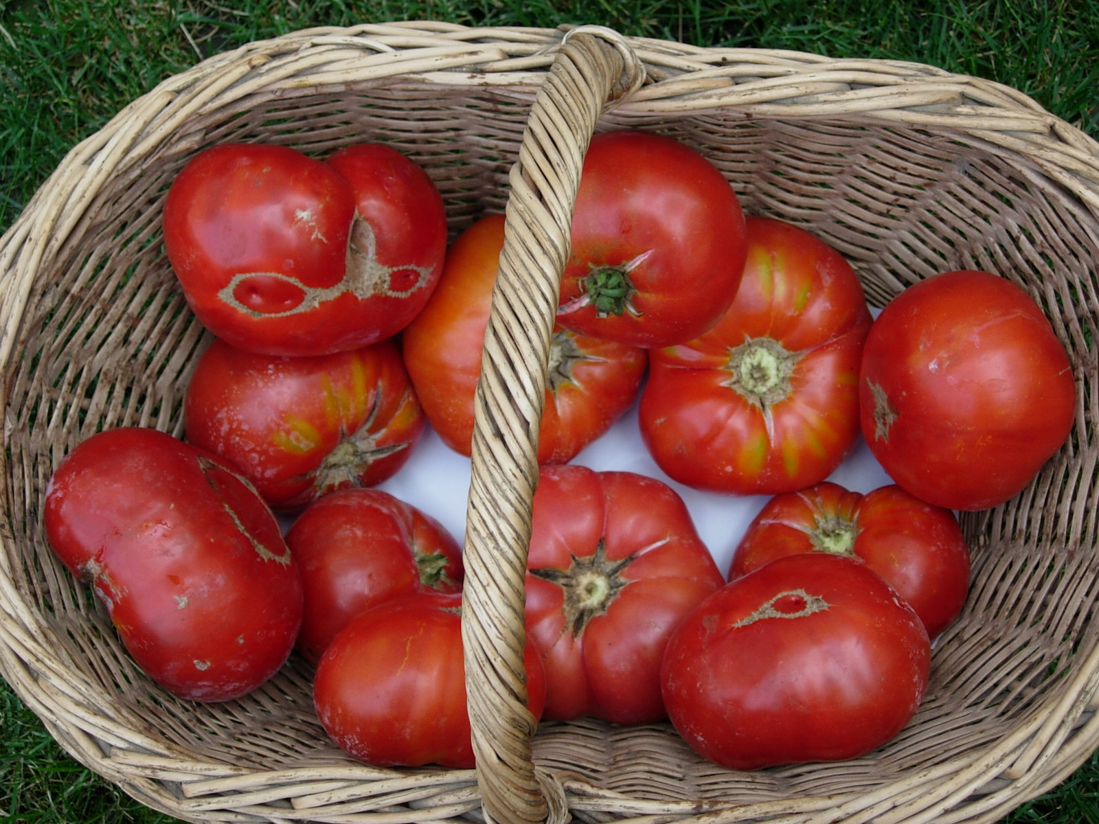
[[(311, 25), (602, 23), (698, 45), (915, 60), (999, 80), (1099, 136), (1099, 0), (0, 0), (0, 232), (82, 137), (201, 57)], [(0, 821), (169, 822), (69, 758), (0, 681)], [(1099, 821), (1099, 759), (1006, 819)]]

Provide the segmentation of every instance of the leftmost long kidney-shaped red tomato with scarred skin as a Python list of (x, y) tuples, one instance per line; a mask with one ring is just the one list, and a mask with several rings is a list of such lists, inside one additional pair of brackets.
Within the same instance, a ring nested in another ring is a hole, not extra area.
[(217, 456), (156, 430), (107, 430), (57, 466), (44, 522), (133, 659), (171, 693), (238, 698), (293, 648), (298, 567), (270, 509)]

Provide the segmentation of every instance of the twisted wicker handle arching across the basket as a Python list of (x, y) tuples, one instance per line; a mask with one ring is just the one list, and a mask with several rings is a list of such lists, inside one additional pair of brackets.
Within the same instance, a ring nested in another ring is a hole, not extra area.
[(490, 822), (563, 822), (564, 792), (535, 770), (526, 709), (526, 553), (550, 341), (588, 142), (608, 104), (637, 88), (618, 33), (566, 33), (510, 171), (504, 244), (477, 385), (462, 633), (478, 786)]

